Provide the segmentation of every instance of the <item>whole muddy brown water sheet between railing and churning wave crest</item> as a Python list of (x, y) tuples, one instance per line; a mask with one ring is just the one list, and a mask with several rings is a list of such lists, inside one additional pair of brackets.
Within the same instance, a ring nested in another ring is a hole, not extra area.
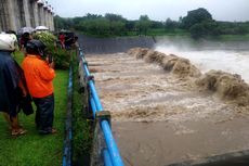
[[(87, 55), (127, 166), (163, 166), (249, 149), (247, 110), (128, 55)], [(194, 79), (194, 78), (193, 78)]]

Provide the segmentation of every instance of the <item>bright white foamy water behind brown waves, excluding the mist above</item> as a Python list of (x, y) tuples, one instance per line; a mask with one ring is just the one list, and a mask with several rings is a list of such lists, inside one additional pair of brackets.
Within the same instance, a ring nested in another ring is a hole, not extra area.
[[(249, 49), (249, 47), (248, 47)], [(172, 44), (158, 44), (156, 51), (175, 54), (188, 59), (202, 73), (210, 69), (221, 69), (232, 74), (239, 74), (249, 82), (249, 51), (236, 50), (187, 50)]]

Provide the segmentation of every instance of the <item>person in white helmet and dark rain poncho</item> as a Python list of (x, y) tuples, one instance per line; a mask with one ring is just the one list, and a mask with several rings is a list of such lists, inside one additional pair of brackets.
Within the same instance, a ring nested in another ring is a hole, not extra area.
[(23, 69), (12, 58), (17, 39), (14, 35), (0, 35), (0, 112), (10, 124), (11, 135), (19, 136), (27, 132), (18, 123), (17, 114), (21, 98), (27, 95)]

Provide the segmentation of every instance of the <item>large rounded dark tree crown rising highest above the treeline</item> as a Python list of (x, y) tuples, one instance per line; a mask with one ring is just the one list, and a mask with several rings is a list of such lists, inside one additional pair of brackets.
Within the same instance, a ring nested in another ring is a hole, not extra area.
[(199, 8), (187, 12), (187, 15), (182, 18), (182, 27), (189, 29), (195, 24), (211, 20), (212, 15), (206, 9)]

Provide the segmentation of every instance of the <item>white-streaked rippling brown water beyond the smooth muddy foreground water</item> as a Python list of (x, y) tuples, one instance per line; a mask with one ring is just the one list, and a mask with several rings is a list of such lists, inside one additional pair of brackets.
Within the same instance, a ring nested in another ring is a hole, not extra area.
[(219, 119), (226, 119), (238, 110), (199, 93), (192, 81), (166, 73), (158, 64), (126, 53), (91, 55), (88, 60), (103, 106), (115, 120), (182, 122), (215, 113), (222, 114)]

